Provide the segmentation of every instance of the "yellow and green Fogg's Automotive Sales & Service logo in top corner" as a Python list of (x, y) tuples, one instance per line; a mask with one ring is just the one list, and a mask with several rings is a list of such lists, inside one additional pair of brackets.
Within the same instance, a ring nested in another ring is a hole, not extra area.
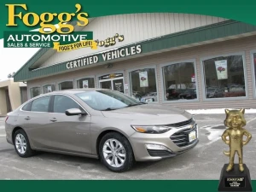
[[(88, 14), (81, 12), (82, 7), (79, 3), (75, 4), (73, 13), (63, 12), (60, 14), (45, 12), (38, 15), (28, 12), (26, 4), (6, 4), (6, 7), (9, 18), (6, 26), (15, 29), (15, 31), (4, 32), (4, 47), (6, 48), (53, 47), (57, 51), (84, 47), (97, 48), (96, 42), (92, 40), (92, 32), (74, 32), (75, 25), (87, 26), (89, 23)], [(22, 9), (22, 11), (18, 12), (16, 9)], [(16, 20), (20, 20), (23, 25), (28, 27), (38, 26), (38, 32), (17, 31)], [(57, 25), (53, 23), (55, 20), (58, 21)]]

